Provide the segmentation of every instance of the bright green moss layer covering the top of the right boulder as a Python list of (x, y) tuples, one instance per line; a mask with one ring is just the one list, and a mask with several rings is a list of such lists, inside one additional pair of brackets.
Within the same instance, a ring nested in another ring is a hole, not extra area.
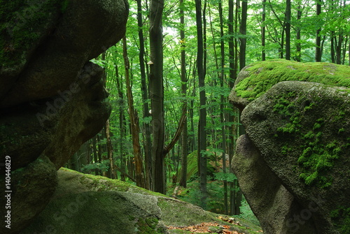
[(247, 98), (248, 101), (265, 94), (276, 83), (288, 80), (350, 87), (350, 68), (344, 65), (273, 59), (251, 64), (246, 71), (249, 76), (236, 85), (235, 92), (237, 96)]

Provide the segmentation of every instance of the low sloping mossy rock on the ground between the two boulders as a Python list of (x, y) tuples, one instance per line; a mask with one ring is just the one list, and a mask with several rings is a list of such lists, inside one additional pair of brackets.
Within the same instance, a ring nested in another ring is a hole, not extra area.
[[(167, 226), (193, 226), (212, 221), (232, 225), (223, 223), (218, 214), (127, 182), (66, 168), (57, 173), (58, 186), (50, 203), (21, 234), (161, 234), (168, 233)], [(251, 225), (251, 233), (258, 228)], [(250, 233), (245, 232), (246, 226), (232, 225), (232, 230)]]

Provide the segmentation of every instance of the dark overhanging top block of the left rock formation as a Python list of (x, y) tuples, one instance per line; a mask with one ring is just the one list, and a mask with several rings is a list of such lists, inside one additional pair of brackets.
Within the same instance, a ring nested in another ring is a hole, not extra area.
[(15, 0), (0, 5), (0, 107), (63, 92), (87, 61), (125, 35), (124, 0)]

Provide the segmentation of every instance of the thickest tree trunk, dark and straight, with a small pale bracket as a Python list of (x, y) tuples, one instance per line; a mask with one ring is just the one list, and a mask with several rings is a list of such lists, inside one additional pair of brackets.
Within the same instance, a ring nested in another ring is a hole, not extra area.
[(150, 92), (153, 127), (152, 145), (152, 175), (153, 191), (166, 192), (165, 158), (164, 158), (164, 85), (163, 43), (162, 43), (162, 13), (163, 0), (151, 0), (150, 8)]

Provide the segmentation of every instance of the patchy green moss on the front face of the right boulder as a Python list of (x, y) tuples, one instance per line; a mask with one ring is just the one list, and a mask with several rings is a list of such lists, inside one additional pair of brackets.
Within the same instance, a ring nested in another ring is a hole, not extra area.
[[(283, 93), (276, 96), (274, 103), (274, 112), (281, 116), (283, 123), (275, 133), (276, 138), (285, 140), (281, 154), (287, 156), (297, 150), (290, 147), (288, 139), (292, 141), (300, 139), (301, 154), (297, 159), (300, 178), (307, 185), (329, 187), (332, 184), (332, 177), (328, 175), (328, 171), (340, 156), (350, 150), (350, 141), (347, 137), (350, 129), (344, 118), (350, 116), (348, 103), (331, 100), (322, 96), (321, 92)], [(328, 106), (326, 115), (321, 112), (325, 106)], [(319, 118), (311, 119), (314, 116)], [(336, 135), (330, 137), (332, 128), (336, 128)]]

